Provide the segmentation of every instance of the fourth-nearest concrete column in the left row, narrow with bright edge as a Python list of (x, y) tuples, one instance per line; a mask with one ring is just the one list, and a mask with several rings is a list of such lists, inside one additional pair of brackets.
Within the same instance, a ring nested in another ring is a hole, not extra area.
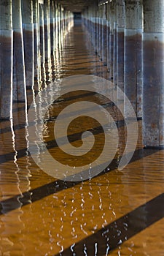
[(41, 80), (40, 38), (39, 38), (39, 1), (33, 0), (33, 23), (34, 23), (34, 78)]

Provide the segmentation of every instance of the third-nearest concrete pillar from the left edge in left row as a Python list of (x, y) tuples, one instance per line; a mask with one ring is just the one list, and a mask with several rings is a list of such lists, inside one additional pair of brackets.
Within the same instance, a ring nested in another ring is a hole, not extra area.
[(24, 0), (22, 3), (23, 41), (25, 51), (26, 86), (34, 86), (34, 24), (33, 1)]

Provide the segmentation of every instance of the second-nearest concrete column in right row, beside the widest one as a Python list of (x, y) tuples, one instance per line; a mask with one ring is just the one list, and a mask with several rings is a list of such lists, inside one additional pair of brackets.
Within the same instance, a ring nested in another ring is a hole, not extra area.
[[(138, 117), (141, 117), (141, 34), (142, 4), (140, 0), (125, 2), (125, 94)], [(126, 115), (125, 106), (125, 115)]]

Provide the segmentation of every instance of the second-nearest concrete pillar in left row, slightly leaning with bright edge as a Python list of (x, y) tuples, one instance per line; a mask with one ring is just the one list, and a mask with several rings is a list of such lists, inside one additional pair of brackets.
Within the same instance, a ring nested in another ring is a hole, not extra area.
[(13, 100), (26, 102), (26, 76), (20, 0), (12, 1), (13, 28)]

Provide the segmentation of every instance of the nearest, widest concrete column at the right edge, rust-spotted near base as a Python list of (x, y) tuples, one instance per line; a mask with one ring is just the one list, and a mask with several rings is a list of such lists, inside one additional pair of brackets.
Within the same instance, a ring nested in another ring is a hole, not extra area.
[(164, 148), (164, 1), (144, 0), (143, 142)]

